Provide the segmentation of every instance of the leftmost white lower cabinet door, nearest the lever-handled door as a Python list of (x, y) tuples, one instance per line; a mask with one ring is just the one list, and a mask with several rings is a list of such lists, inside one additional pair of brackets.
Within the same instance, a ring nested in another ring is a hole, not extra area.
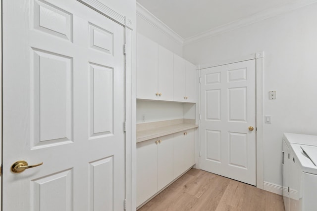
[(158, 192), (157, 138), (137, 143), (137, 206)]

